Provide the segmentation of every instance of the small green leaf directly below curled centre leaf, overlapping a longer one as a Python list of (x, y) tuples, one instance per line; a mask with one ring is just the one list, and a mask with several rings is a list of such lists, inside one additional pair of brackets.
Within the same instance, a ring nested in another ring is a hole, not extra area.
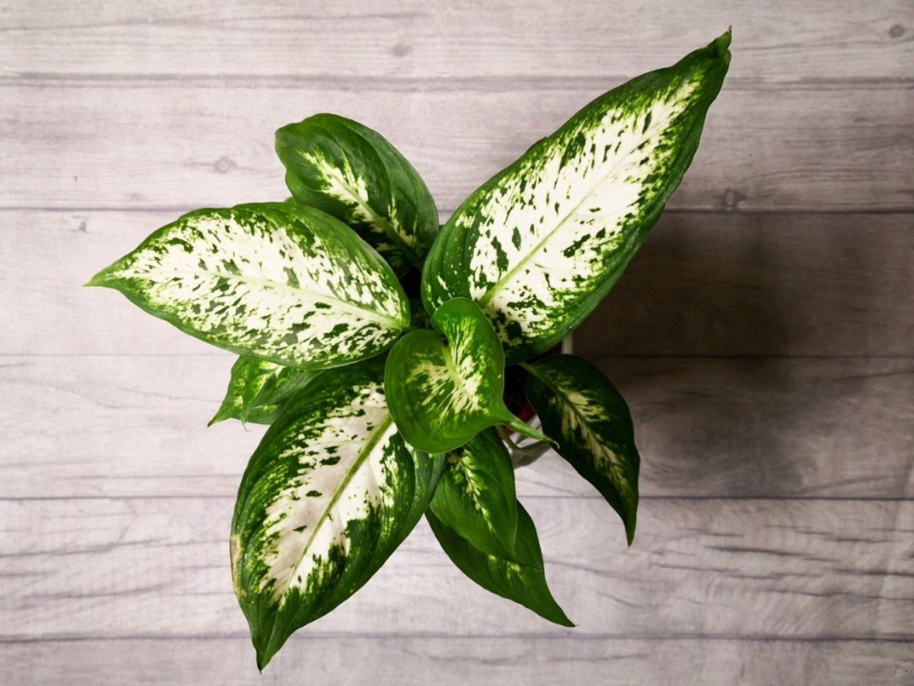
[(494, 429), (448, 453), (431, 511), (483, 552), (513, 559), (517, 535), (514, 467)]

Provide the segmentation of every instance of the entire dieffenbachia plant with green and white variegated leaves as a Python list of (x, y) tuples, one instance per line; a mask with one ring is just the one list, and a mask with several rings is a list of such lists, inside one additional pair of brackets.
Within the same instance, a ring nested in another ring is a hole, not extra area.
[[(190, 212), (91, 279), (239, 355), (212, 422), (271, 424), (230, 539), (261, 669), (365, 584), (423, 513), (474, 582), (572, 626), (515, 467), (551, 445), (631, 544), (640, 458), (603, 373), (545, 353), (607, 295), (679, 185), (729, 42), (590, 102), (443, 226), (380, 134), (333, 114), (284, 126), (276, 151), (292, 198)], [(538, 428), (505, 403), (505, 365), (526, 375)]]

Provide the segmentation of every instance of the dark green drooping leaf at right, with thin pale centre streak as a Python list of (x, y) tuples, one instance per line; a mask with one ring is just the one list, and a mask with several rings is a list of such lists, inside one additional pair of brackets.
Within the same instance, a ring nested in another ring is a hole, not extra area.
[(632, 414), (622, 394), (590, 362), (554, 355), (525, 365), (526, 395), (581, 477), (619, 513), (629, 545), (638, 514), (638, 470)]

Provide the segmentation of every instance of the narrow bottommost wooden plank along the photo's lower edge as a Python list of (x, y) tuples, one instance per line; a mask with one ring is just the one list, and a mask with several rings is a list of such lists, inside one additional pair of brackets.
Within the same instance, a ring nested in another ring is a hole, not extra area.
[[(7, 683), (59, 683), (61, 674), (97, 686), (193, 684), (218, 674), (219, 684), (300, 683), (325, 686), (629, 686), (675, 683), (864, 684), (899, 686), (914, 674), (909, 644), (727, 638), (292, 638), (262, 674), (247, 638), (139, 638), (0, 643)], [(104, 668), (100, 669), (103, 665)]]

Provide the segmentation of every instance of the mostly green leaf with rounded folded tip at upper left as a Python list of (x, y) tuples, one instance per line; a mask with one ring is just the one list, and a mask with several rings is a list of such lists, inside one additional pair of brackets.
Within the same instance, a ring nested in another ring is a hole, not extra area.
[(336, 114), (276, 132), (292, 197), (344, 221), (394, 272), (422, 266), (438, 235), (438, 209), (419, 173), (388, 141)]

